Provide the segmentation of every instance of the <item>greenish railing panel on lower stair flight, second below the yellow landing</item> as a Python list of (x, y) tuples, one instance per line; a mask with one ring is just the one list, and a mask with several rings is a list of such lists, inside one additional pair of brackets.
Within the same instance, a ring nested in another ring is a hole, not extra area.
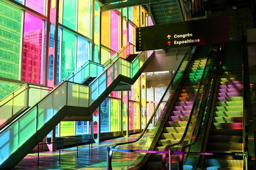
[(53, 93), (38, 103), (38, 127), (39, 130), (53, 116)]

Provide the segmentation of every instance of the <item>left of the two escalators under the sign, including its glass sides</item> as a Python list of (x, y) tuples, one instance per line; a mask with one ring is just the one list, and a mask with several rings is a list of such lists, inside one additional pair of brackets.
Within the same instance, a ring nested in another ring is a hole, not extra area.
[[(197, 110), (193, 106), (194, 101), (201, 96), (205, 83), (209, 82), (207, 81), (208, 75), (212, 72), (209, 70), (212, 70), (214, 63), (210, 54), (211, 46), (208, 45), (198, 47), (193, 57), (185, 56), (140, 137), (134, 141), (118, 143), (113, 148), (163, 151), (166, 147), (168, 149), (170, 144), (177, 143), (183, 138), (183, 134), (187, 137), (182, 144), (185, 144), (187, 139), (191, 139), (191, 136), (186, 134), (193, 131), (191, 125), (194, 124), (196, 118), (194, 109)], [(169, 91), (168, 94), (167, 91)], [(201, 101), (196, 101), (198, 107)], [(159, 109), (160, 105), (165, 106)], [(180, 150), (180, 147), (181, 145), (177, 144), (175, 150)], [(126, 156), (129, 157), (128, 160)], [(125, 157), (125, 161), (121, 160), (122, 157)], [(162, 154), (151, 156), (150, 154), (111, 151), (109, 164), (112, 169), (161, 169), (162, 159)], [(149, 162), (146, 163), (147, 161)], [(164, 165), (168, 166), (168, 163)]]

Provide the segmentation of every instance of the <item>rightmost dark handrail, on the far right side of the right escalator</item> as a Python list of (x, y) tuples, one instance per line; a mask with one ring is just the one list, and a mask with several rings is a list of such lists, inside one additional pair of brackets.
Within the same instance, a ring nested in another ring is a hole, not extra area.
[(249, 64), (248, 54), (246, 49), (246, 37), (244, 36), (242, 27), (242, 81), (243, 81), (243, 142), (244, 148), (248, 151), (250, 161), (254, 161), (253, 168), (255, 168), (255, 151), (254, 151), (254, 132), (253, 132), (253, 118), (251, 110), (251, 94), (250, 94), (250, 80), (249, 80)]

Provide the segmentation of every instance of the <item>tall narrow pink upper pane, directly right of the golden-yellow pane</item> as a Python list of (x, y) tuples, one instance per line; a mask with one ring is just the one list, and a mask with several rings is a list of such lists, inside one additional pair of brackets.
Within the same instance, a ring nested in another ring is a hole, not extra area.
[(111, 11), (111, 49), (118, 51), (118, 14), (115, 11)]

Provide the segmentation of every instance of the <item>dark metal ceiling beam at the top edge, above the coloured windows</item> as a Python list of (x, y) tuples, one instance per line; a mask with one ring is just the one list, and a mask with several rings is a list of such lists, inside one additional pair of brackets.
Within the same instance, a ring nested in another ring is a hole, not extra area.
[(109, 11), (109, 10), (113, 10), (113, 9), (127, 8), (127, 7), (133, 7), (133, 6), (138, 6), (138, 5), (154, 4), (154, 3), (158, 3), (158, 2), (161, 2), (161, 0), (132, 0), (132, 1), (118, 3), (118, 4), (105, 5), (105, 6), (102, 6), (100, 8), (100, 10), (101, 11)]

